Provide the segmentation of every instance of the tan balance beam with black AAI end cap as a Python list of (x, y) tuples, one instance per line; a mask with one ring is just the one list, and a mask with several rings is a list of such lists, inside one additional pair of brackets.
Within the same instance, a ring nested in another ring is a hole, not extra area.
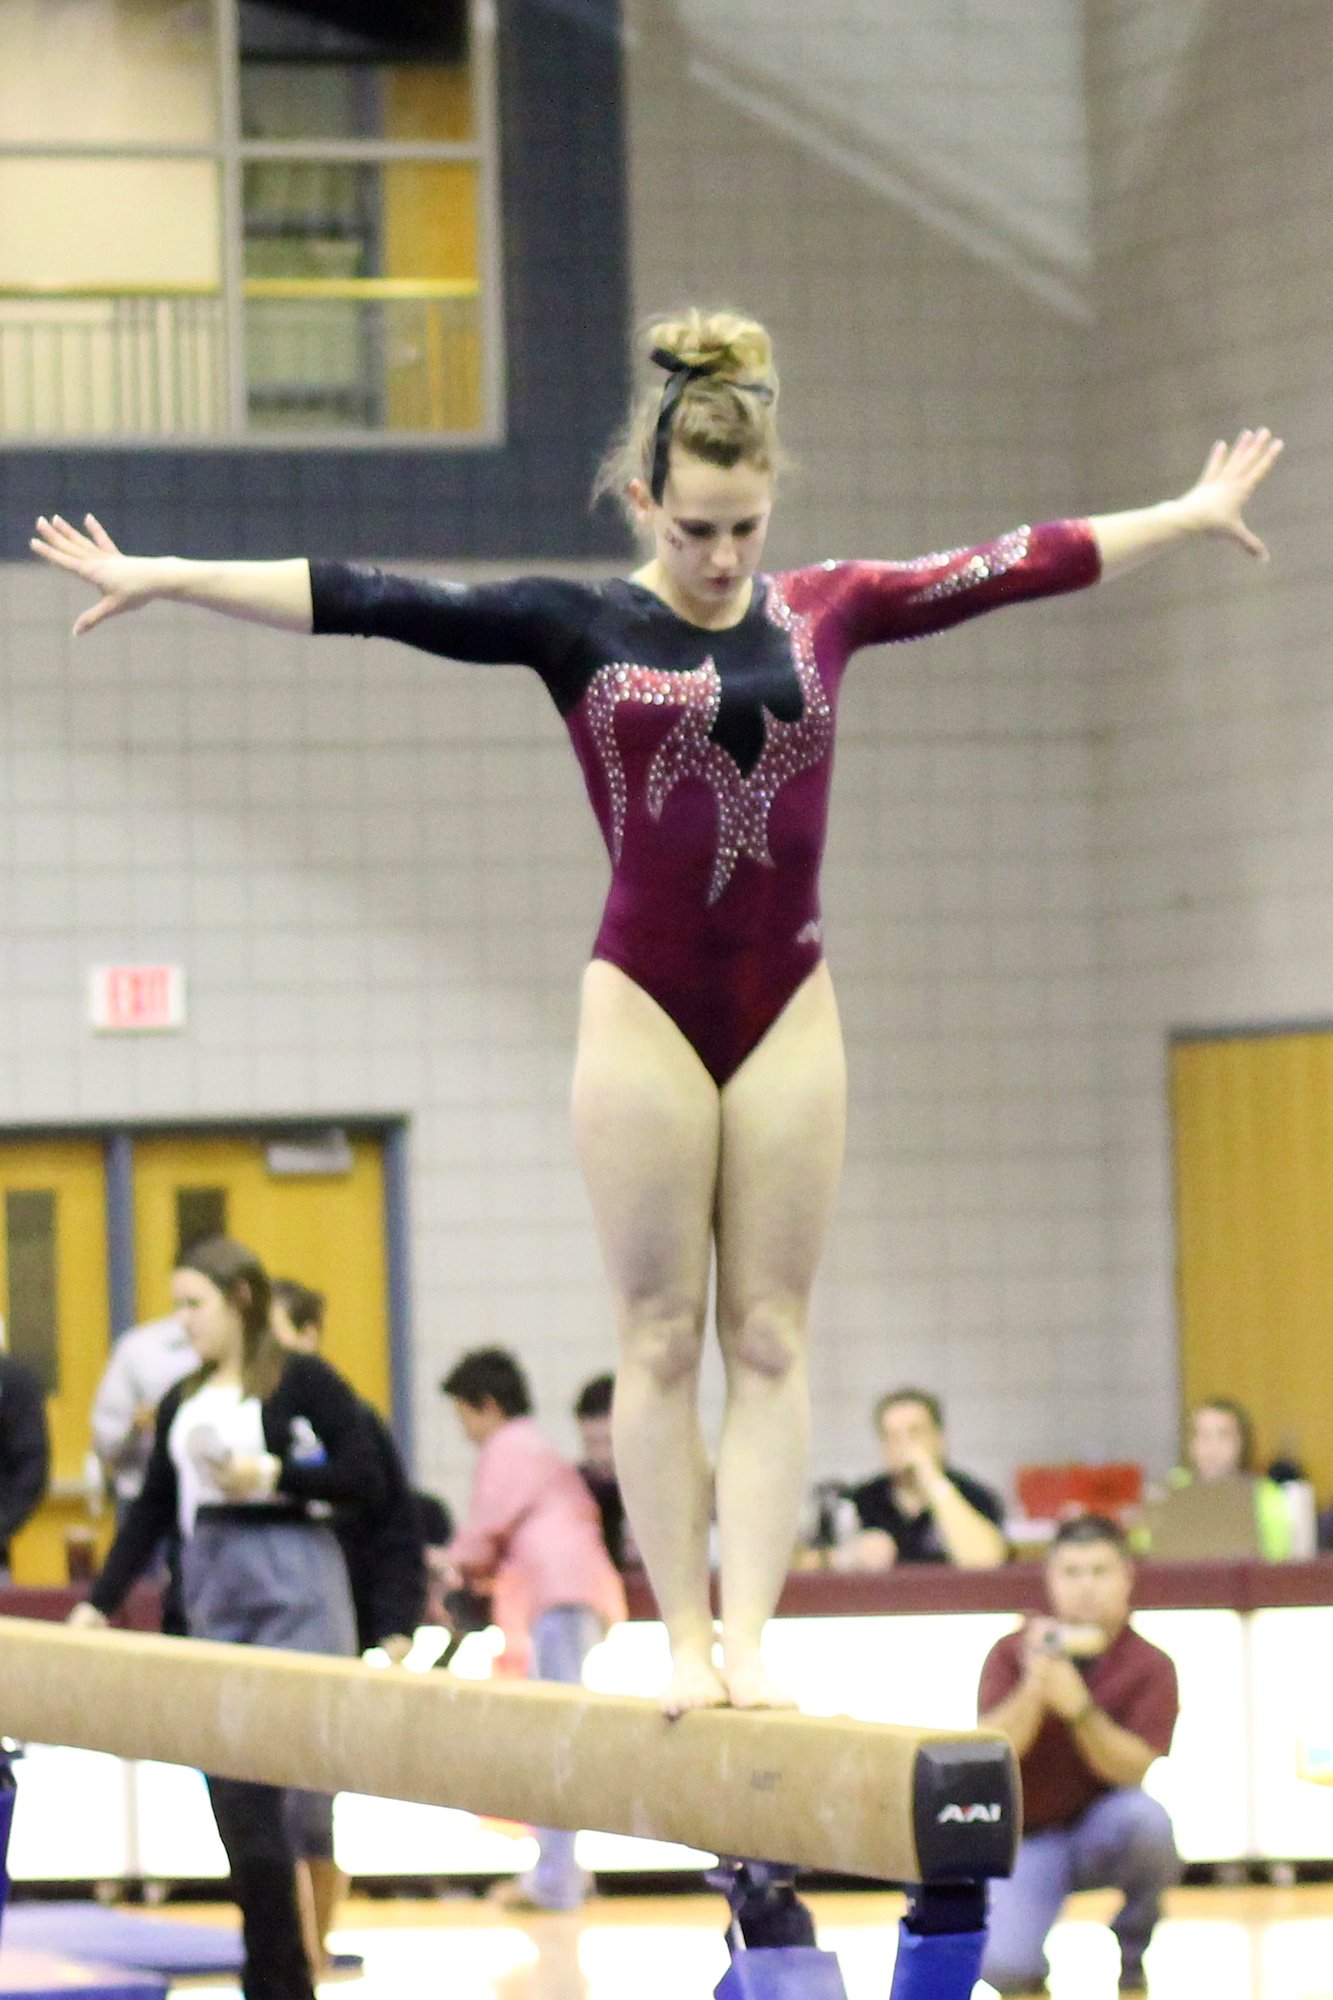
[(0, 1618), (0, 1732), (881, 1882), (1007, 1874), (1019, 1834), (995, 1732), (737, 1708), (666, 1722), (584, 1688), (28, 1618)]

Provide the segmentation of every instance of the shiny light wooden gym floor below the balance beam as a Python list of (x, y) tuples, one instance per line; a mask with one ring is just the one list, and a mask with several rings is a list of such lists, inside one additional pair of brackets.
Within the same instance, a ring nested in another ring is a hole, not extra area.
[[(901, 1900), (809, 1898), (849, 2000), (889, 2000)], [(1055, 2000), (1115, 2000), (1109, 1896), (1077, 1896), (1051, 1938)], [(168, 1912), (162, 1912), (168, 1914)], [(198, 1922), (216, 1908), (170, 1908)], [(727, 1970), (725, 1908), (711, 1896), (604, 1896), (576, 1916), (510, 1918), (474, 1898), (346, 1904), (336, 1942), (360, 1980), (320, 2000), (709, 2000)], [(1149, 1954), (1153, 2000), (1333, 2000), (1333, 1886), (1183, 1888)], [(190, 1982), (194, 1994), (234, 1986)], [(979, 2000), (991, 1992), (981, 1986)]]

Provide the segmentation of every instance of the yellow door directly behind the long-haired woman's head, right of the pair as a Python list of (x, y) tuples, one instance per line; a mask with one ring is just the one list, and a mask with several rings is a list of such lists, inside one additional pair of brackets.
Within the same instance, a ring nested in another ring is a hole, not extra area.
[(172, 1136), (134, 1140), (138, 1314), (170, 1312), (182, 1244), (224, 1230), (270, 1276), (324, 1292), (324, 1358), (388, 1412), (388, 1272), (384, 1172), (376, 1138), (350, 1138), (346, 1172), (274, 1174), (268, 1140)]

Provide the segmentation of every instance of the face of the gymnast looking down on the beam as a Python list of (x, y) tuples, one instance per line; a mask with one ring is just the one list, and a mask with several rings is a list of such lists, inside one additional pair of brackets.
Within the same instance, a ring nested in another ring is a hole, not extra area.
[(634, 480), (630, 500), (652, 536), (648, 580), (673, 610), (705, 626), (745, 616), (773, 514), (773, 474), (671, 454), (662, 504)]

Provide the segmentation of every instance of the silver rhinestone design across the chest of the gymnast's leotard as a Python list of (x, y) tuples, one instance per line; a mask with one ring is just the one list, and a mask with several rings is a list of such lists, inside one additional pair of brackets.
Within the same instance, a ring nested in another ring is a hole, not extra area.
[(769, 584), (767, 616), (791, 638), (797, 680), (805, 706), (797, 722), (781, 722), (765, 708), (765, 746), (747, 776), (729, 750), (713, 742), (709, 730), (723, 700), (723, 680), (713, 656), (685, 674), (616, 660), (592, 676), (584, 694), (588, 730), (602, 758), (610, 794), (610, 858), (620, 860), (624, 810), (628, 802), (624, 764), (616, 744), (616, 708), (642, 702), (681, 708), (681, 720), (658, 744), (644, 782), (646, 806), (660, 820), (666, 798), (685, 778), (703, 778), (717, 800), (717, 854), (709, 882), (709, 904), (727, 888), (737, 860), (773, 868), (769, 852), (769, 812), (783, 786), (829, 756), (833, 710), (815, 664), (811, 620), (793, 612), (777, 584)]

